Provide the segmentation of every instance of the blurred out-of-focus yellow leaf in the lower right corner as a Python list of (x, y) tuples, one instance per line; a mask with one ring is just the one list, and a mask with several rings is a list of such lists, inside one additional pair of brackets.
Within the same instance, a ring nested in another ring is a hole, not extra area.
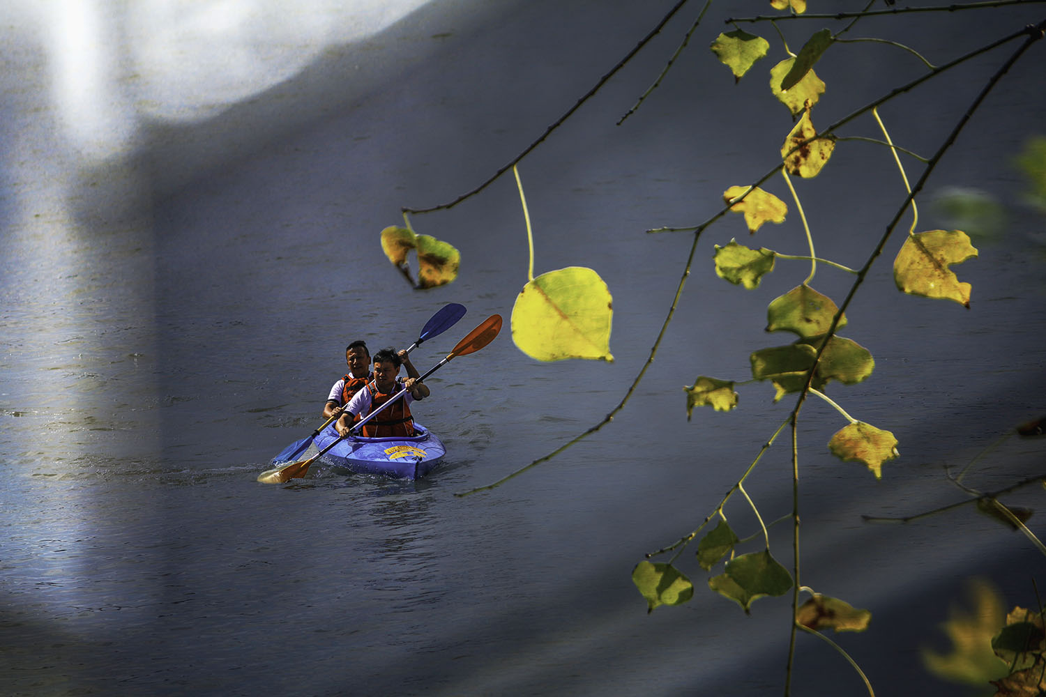
[(951, 640), (951, 651), (938, 653), (924, 647), (923, 663), (937, 677), (984, 687), (1007, 672), (992, 651), (992, 637), (1002, 628), (1006, 609), (1002, 597), (985, 581), (971, 582), (968, 595), (972, 605), (953, 605), (948, 621), (941, 624)]

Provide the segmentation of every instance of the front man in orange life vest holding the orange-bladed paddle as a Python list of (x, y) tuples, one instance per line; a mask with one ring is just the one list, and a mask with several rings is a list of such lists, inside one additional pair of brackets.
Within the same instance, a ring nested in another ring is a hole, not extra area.
[[(407, 379), (397, 378), (400, 366), (407, 368)], [(407, 392), (392, 404), (382, 410), (367, 423), (363, 424), (363, 436), (366, 438), (388, 438), (414, 435), (414, 419), (410, 414), (411, 402), (429, 396), (429, 387), (418, 382), (418, 372), (410, 363), (410, 355), (401, 350), (382, 349), (374, 354), (374, 377), (366, 387), (356, 393), (335, 428), (342, 436), (347, 434), (357, 418), (369, 415), (382, 404), (406, 388)]]

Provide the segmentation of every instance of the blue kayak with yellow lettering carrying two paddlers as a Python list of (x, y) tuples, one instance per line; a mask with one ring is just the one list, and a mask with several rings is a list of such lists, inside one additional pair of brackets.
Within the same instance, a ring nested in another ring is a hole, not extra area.
[[(327, 450), (323, 459), (354, 472), (416, 480), (428, 474), (447, 449), (435, 434), (416, 422), (414, 432), (410, 437), (349, 436)], [(337, 438), (338, 432), (331, 425), (314, 442), (322, 450)]]

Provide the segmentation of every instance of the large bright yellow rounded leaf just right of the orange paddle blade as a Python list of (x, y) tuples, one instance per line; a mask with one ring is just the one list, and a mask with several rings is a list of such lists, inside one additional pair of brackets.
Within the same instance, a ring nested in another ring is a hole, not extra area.
[(513, 341), (531, 358), (613, 361), (610, 289), (586, 266), (542, 274), (523, 286), (513, 306)]

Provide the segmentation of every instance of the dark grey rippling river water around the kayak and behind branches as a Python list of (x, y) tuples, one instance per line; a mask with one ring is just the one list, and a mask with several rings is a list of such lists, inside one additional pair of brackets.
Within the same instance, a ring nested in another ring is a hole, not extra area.
[[(617, 404), (650, 355), (691, 239), (643, 231), (700, 223), (727, 186), (772, 166), (783, 108), (764, 96), (761, 76), (734, 87), (704, 48), (724, 17), (752, 10), (710, 13), (661, 87), (615, 126), (697, 16), (687, 6), (521, 164), (536, 273), (588, 265), (614, 297), (613, 364), (541, 365), (508, 331), (527, 279), (510, 179), (412, 217), (461, 251), (460, 276), (444, 288), (412, 291), (385, 261), (379, 231), (401, 223), (401, 207), (446, 202), (493, 173), (670, 3), (437, 0), (348, 43), (339, 31), (362, 20), (304, 4), (308, 26), (279, 3), (210, 3), (226, 14), (201, 26), (254, 33), (215, 34), (200, 45), (218, 49), (201, 57), (170, 48), (174, 19), (142, 18), (162, 3), (89, 3), (85, 36), (94, 27), (115, 42), (87, 71), (108, 76), (85, 83), (108, 99), (101, 107), (62, 92), (78, 64), (55, 52), (47, 5), (5, 10), (2, 692), (780, 694), (788, 599), (759, 600), (745, 615), (704, 587), (686, 553), (693, 600), (647, 614), (630, 578), (644, 553), (714, 509), (794, 403), (746, 385), (737, 411), (686, 419), (684, 385), (701, 374), (743, 380), (751, 351), (791, 341), (764, 332), (765, 308), (801, 282), (804, 262), (778, 261), (754, 292), (714, 276), (712, 246), (746, 241), (740, 218), (702, 238), (656, 361), (611, 424), (501, 488), (455, 495)], [(262, 28), (248, 21), (259, 7)], [(1041, 21), (1042, 5), (1029, 7), (863, 30), (945, 63)], [(782, 23), (793, 50), (812, 26), (799, 24)], [(772, 30), (760, 32), (773, 44)], [(938, 624), (969, 579), (990, 580), (1009, 606), (1034, 605), (1033, 583), (1046, 580), (1024, 537), (971, 507), (905, 526), (860, 517), (963, 499), (943, 466), (962, 468), (1046, 406), (1044, 218), (1021, 203), (1011, 165), (1046, 123), (1043, 49), (1003, 79), (928, 187), (976, 187), (1005, 207), (1001, 233), (976, 238), (979, 257), (956, 268), (974, 286), (970, 309), (901, 296), (889, 269), (897, 241), (848, 311), (842, 333), (869, 348), (876, 372), (832, 395), (893, 432), (902, 457), (876, 481), (823, 447), (845, 423), (834, 410), (813, 399), (803, 410), (803, 583), (872, 610), (869, 631), (835, 638), (877, 694), (957, 694), (919, 652), (948, 647)], [(162, 50), (175, 53), (160, 66)], [(992, 53), (964, 77), (884, 108), (893, 139), (932, 154), (1002, 60)], [(816, 122), (919, 70), (895, 48), (833, 47), (818, 65), (828, 92)], [(224, 82), (195, 82), (211, 73)], [(878, 137), (867, 117), (859, 125), (850, 135)], [(784, 198), (779, 180), (767, 186)], [(818, 255), (860, 266), (903, 193), (882, 148), (841, 143), (825, 173), (800, 186)], [(920, 207), (920, 229), (947, 225), (934, 215)], [(803, 254), (798, 216), (765, 228), (760, 245)], [(814, 285), (841, 301), (850, 278), (821, 264)], [(255, 482), (322, 421), (348, 341), (408, 345), (448, 302), (469, 313), (413, 353), (422, 370), (491, 313), (505, 329), (433, 374), (433, 396), (415, 410), (447, 444), (444, 465), (418, 482), (323, 466), (283, 486)], [(787, 441), (746, 487), (768, 522), (792, 510)], [(1040, 473), (1042, 456), (1042, 441), (1006, 440), (964, 482), (1002, 488)], [(1005, 501), (1033, 508), (1041, 491)], [(736, 498), (727, 513), (740, 533), (758, 532)], [(1038, 516), (1029, 526), (1046, 532)], [(771, 549), (791, 567), (788, 528), (771, 529)], [(795, 694), (864, 694), (838, 654), (799, 638)]]

